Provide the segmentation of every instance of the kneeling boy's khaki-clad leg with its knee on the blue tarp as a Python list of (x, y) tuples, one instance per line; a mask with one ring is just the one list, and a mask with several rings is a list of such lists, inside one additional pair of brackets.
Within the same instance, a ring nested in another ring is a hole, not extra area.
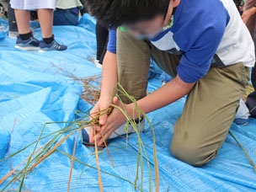
[(174, 126), (174, 157), (193, 166), (202, 166), (216, 157), (248, 79), (249, 69), (243, 63), (210, 68), (189, 93), (183, 114)]

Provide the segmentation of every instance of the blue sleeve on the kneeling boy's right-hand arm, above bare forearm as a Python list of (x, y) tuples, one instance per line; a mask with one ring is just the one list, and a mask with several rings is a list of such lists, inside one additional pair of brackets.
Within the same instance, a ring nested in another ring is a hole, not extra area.
[(225, 29), (225, 24), (206, 29), (189, 51), (184, 52), (177, 72), (185, 83), (195, 83), (209, 71)]

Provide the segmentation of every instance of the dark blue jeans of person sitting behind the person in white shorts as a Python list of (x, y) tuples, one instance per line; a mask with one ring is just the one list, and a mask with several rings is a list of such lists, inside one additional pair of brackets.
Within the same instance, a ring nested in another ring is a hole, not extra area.
[(53, 25), (77, 25), (79, 12), (77, 8), (56, 8), (53, 17)]

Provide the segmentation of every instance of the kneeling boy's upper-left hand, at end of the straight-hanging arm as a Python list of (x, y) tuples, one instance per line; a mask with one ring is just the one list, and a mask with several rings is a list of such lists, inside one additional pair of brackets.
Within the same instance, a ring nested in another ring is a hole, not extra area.
[[(104, 125), (107, 120), (108, 120), (108, 113), (106, 112), (107, 109), (109, 109), (111, 100), (105, 100), (105, 99), (99, 99), (98, 103), (95, 104), (93, 109), (90, 111), (90, 120), (97, 119), (99, 116), (99, 126), (93, 126), (90, 129), (90, 143), (94, 143), (94, 136), (95, 136), (95, 130), (96, 130), (96, 135), (100, 131), (100, 126)], [(104, 111), (103, 115), (100, 115), (100, 112)]]

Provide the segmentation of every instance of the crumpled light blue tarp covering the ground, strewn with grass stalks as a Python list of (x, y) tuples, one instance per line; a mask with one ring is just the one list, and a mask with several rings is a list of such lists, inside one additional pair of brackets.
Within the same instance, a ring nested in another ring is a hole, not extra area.
[[(56, 40), (68, 45), (68, 50), (63, 52), (18, 51), (13, 48), (14, 40), (0, 41), (0, 159), (35, 141), (46, 122), (72, 121), (76, 118), (77, 109), (86, 112), (91, 108), (90, 104), (80, 99), (83, 87), (73, 77), (91, 77), (101, 73), (91, 62), (96, 50), (94, 27), (95, 22), (88, 15), (83, 16), (77, 27), (54, 27)], [(35, 37), (40, 39), (40, 29), (35, 30)], [(150, 81), (148, 89), (151, 92), (160, 85), (156, 77)], [(183, 107), (184, 99), (180, 99), (148, 115), (156, 132), (159, 191), (255, 191), (256, 173), (230, 135), (216, 159), (203, 168), (191, 167), (172, 157), (169, 145), (173, 125)], [(65, 126), (47, 125), (43, 135)], [(231, 131), (256, 161), (256, 120), (250, 119), (250, 123), (244, 127), (232, 125)], [(71, 136), (58, 150), (71, 155), (75, 136)], [(141, 133), (141, 139), (146, 146), (151, 171), (147, 168), (147, 158), (144, 156), (143, 185), (140, 182), (138, 184), (143, 191), (149, 191), (149, 173), (152, 173), (153, 189), (155, 186), (152, 131), (149, 125)], [(44, 143), (45, 140), (40, 141), (39, 147)], [(10, 158), (12, 167), (24, 161), (32, 150), (33, 147), (29, 147)], [(136, 134), (129, 137), (128, 143), (123, 139), (111, 142), (109, 152), (114, 167), (106, 149), (99, 155), (100, 168), (107, 172), (102, 173), (104, 191), (136, 191), (127, 182), (133, 183), (136, 179)], [(92, 149), (84, 147), (80, 139), (76, 157), (96, 168)], [(10, 171), (9, 165), (8, 160), (0, 163), (0, 178)], [(70, 166), (68, 157), (55, 152), (29, 173), (24, 184), (29, 191), (66, 191)], [(5, 184), (0, 185), (0, 190)], [(18, 184), (12, 189), (18, 189)], [(71, 189), (99, 191), (97, 170), (75, 163)]]

